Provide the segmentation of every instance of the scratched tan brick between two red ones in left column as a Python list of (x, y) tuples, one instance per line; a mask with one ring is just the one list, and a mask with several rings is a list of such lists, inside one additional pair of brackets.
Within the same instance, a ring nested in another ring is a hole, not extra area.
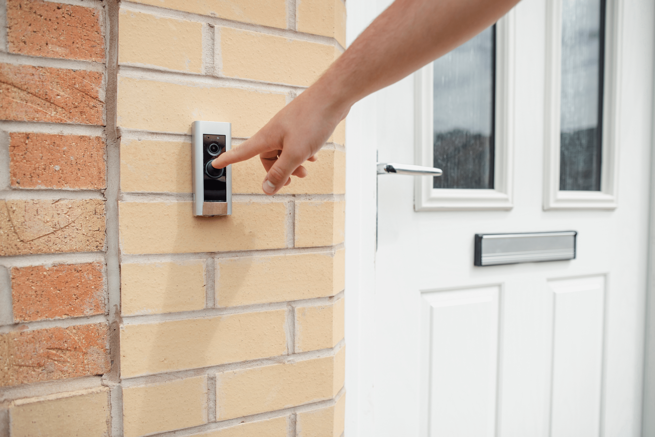
[(105, 205), (93, 200), (0, 200), (0, 256), (98, 252)]

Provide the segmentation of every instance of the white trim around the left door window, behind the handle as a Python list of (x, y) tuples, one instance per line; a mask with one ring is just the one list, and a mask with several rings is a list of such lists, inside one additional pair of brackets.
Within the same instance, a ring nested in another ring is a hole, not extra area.
[[(415, 177), (415, 211), (512, 209), (514, 148), (514, 10), (496, 23), (494, 189), (432, 188), (432, 177)], [(415, 160), (434, 166), (432, 63), (414, 73)]]

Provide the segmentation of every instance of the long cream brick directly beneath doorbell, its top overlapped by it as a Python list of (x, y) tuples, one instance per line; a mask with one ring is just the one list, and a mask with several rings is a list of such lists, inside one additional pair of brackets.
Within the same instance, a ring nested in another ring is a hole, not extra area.
[(124, 253), (198, 253), (286, 247), (286, 205), (233, 202), (232, 215), (193, 217), (191, 202), (119, 204)]

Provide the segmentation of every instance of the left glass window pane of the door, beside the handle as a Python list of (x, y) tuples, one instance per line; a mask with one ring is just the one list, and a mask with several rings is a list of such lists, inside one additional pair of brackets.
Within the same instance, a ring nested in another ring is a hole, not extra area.
[(493, 188), (496, 27), (434, 61), (434, 188)]

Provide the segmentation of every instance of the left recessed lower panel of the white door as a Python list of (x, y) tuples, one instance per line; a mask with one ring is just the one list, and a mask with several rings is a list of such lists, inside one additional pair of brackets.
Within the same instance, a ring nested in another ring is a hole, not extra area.
[(429, 436), (495, 435), (499, 295), (498, 286), (422, 294)]

